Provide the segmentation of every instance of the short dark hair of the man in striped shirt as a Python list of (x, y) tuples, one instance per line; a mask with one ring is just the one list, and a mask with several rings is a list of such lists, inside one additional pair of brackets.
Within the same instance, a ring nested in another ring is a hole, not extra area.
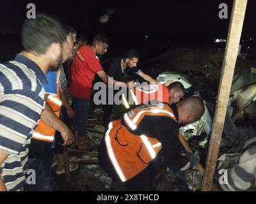
[(66, 40), (66, 32), (60, 21), (44, 14), (26, 19), (22, 25), (22, 45), (28, 52), (45, 54), (52, 43)]

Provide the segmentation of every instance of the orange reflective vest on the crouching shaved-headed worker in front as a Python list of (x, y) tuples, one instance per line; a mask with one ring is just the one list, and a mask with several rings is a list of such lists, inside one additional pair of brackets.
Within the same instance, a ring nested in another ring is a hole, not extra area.
[(134, 134), (146, 115), (161, 115), (176, 120), (172, 108), (161, 103), (125, 113), (122, 119), (110, 122), (106, 131), (104, 140), (108, 156), (122, 182), (132, 179), (147, 168), (162, 149), (161, 142), (154, 135)]

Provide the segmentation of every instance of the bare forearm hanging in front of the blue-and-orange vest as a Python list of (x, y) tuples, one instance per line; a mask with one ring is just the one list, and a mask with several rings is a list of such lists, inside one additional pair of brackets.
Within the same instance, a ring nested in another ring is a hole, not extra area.
[(72, 131), (52, 112), (51, 106), (45, 104), (44, 112), (42, 112), (41, 120), (48, 126), (58, 130), (64, 140), (63, 145), (70, 145), (74, 141)]

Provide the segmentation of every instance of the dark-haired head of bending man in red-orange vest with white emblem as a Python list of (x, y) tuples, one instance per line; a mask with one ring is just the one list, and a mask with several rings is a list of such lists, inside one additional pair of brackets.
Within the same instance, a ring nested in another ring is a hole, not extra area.
[(169, 103), (178, 103), (180, 98), (182, 98), (185, 94), (185, 89), (182, 83), (180, 82), (173, 82), (172, 84), (168, 85), (168, 89), (170, 92), (169, 96)]

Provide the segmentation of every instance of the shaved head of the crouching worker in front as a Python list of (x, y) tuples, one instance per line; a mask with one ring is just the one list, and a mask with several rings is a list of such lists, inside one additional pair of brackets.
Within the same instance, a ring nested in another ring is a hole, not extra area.
[(179, 124), (186, 126), (199, 120), (204, 115), (204, 101), (196, 96), (189, 96), (177, 103)]

